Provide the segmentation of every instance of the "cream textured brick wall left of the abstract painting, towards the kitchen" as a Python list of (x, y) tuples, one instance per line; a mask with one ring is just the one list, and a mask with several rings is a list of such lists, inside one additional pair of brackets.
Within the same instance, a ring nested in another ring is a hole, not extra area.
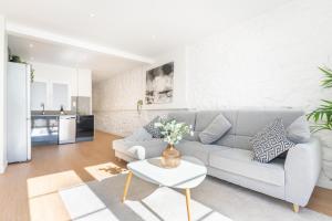
[(144, 97), (145, 67), (115, 75), (93, 85), (93, 114), (96, 129), (126, 136), (155, 116), (168, 110), (142, 110), (136, 103)]

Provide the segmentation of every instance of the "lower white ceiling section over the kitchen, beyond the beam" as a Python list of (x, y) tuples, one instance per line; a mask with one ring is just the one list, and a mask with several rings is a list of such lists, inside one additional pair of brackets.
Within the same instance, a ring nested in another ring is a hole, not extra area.
[(94, 82), (122, 73), (144, 63), (94, 52), (71, 45), (9, 35), (8, 45), (13, 55), (27, 62), (41, 62), (92, 70)]

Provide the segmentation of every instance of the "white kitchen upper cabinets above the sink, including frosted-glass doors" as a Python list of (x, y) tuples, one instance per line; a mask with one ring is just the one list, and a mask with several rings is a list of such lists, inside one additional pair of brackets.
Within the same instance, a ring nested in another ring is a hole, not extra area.
[(31, 109), (71, 110), (73, 96), (92, 97), (91, 70), (33, 63), (34, 83), (31, 85)]

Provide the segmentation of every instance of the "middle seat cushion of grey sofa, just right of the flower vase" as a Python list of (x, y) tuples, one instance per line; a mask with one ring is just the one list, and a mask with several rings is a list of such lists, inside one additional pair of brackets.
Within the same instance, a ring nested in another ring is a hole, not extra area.
[(181, 140), (175, 146), (181, 154), (181, 156), (190, 156), (199, 159), (205, 165), (208, 165), (209, 152), (216, 149), (229, 149), (229, 147), (222, 147), (217, 145), (204, 145), (199, 141)]

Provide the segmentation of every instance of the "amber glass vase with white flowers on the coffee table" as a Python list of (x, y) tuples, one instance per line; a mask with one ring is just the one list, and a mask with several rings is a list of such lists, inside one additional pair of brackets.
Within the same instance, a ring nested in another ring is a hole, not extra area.
[(155, 123), (155, 127), (160, 130), (164, 141), (168, 145), (162, 154), (162, 166), (164, 168), (175, 168), (180, 164), (180, 152), (174, 147), (185, 135), (193, 135), (191, 126), (185, 123), (177, 123), (175, 119), (160, 119)]

